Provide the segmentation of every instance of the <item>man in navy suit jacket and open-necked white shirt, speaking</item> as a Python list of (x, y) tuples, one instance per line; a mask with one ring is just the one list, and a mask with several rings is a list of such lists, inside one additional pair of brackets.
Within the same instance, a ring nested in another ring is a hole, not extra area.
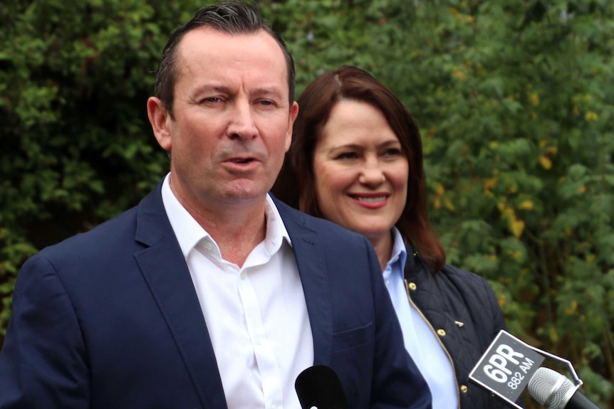
[(147, 113), (171, 171), (130, 211), (25, 263), (0, 408), (299, 408), (331, 366), (350, 408), (430, 408), (365, 238), (268, 195), (293, 61), (241, 1), (172, 34)]

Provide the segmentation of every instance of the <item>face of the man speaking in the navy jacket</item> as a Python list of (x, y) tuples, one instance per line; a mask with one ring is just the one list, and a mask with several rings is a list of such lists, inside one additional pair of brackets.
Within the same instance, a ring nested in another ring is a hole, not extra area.
[(265, 31), (197, 28), (179, 43), (175, 67), (175, 119), (164, 112), (157, 132), (154, 126), (160, 146), (171, 151), (175, 196), (196, 211), (263, 200), (298, 113), (296, 102), (289, 106), (279, 44)]

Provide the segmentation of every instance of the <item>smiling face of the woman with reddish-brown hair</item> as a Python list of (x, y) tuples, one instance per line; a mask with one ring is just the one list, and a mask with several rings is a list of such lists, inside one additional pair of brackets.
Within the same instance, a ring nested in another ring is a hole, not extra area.
[(405, 207), (408, 172), (407, 156), (383, 112), (356, 100), (333, 107), (313, 154), (324, 218), (378, 240)]

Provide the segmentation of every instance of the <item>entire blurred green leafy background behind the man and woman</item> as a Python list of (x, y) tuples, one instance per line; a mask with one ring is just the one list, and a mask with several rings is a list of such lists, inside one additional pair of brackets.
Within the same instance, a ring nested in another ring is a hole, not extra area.
[[(170, 32), (209, 3), (2, 1), (0, 347), (26, 258), (167, 173), (145, 102)], [(296, 60), (297, 97), (342, 64), (400, 97), (448, 262), (486, 277), (509, 331), (614, 408), (610, 0), (258, 3)]]

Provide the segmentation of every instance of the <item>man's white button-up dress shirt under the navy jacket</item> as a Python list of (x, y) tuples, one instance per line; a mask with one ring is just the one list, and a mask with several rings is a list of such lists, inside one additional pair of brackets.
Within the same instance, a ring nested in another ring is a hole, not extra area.
[(313, 337), (292, 243), (266, 198), (266, 237), (242, 267), (162, 184), (175, 231), (207, 323), (229, 409), (300, 409), (294, 381), (313, 365)]

